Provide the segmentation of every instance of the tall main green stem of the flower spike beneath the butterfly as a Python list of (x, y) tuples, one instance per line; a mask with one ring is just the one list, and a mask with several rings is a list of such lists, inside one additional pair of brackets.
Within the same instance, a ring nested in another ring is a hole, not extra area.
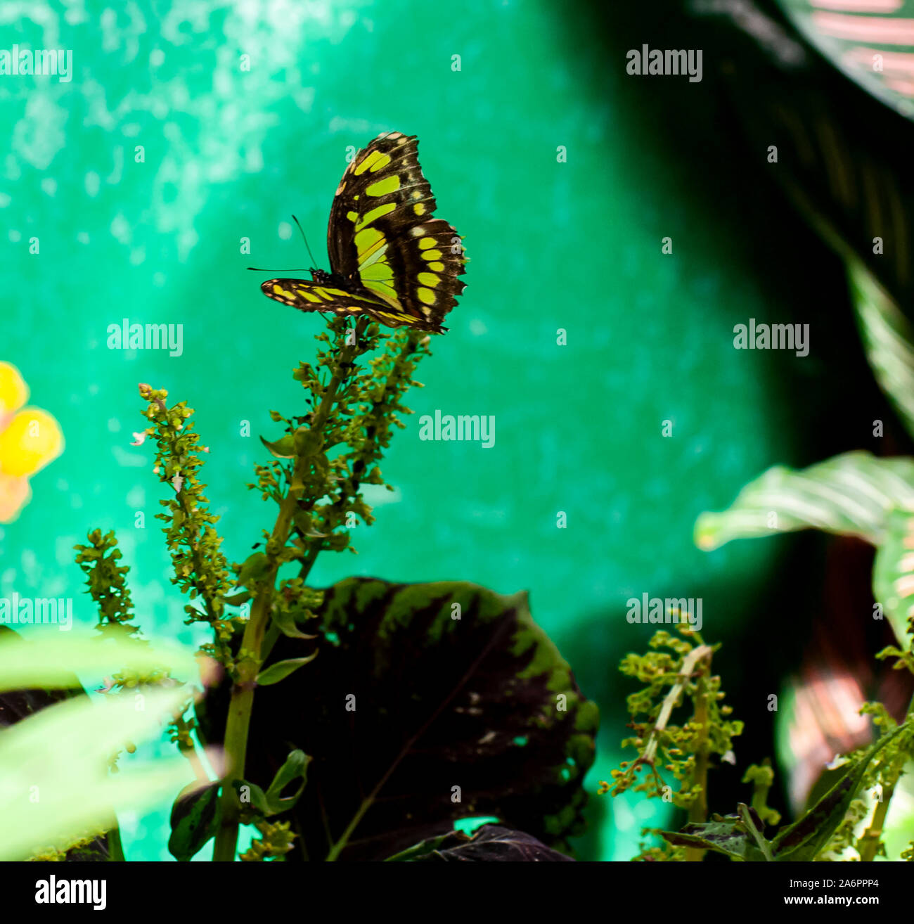
[(271, 604), (279, 571), (278, 554), (285, 548), (292, 529), (293, 517), (299, 504), (299, 491), (296, 485), (301, 483), (311, 460), (323, 448), (323, 431), (330, 413), (336, 403), (340, 385), (348, 376), (350, 364), (356, 359), (363, 347), (362, 334), (370, 319), (361, 318), (355, 328), (355, 343), (352, 346), (339, 347), (330, 382), (323, 391), (321, 405), (311, 418), (311, 425), (302, 441), (300, 451), (296, 453), (295, 468), (291, 486), (279, 505), (279, 514), (270, 540), (267, 542), (266, 555), (270, 559), (263, 577), (257, 582), (254, 603), (251, 607), (248, 625), (245, 626), (241, 648), (251, 652), (237, 665), (238, 674), (232, 686), (232, 697), (228, 706), (228, 718), (225, 723), (225, 762), (226, 772), (222, 784), (219, 805), (222, 810), (222, 822), (216, 832), (213, 847), (213, 860), (232, 861), (238, 846), (238, 796), (234, 783), (244, 779), (245, 760), (248, 751), (248, 731), (250, 711), (254, 703), (256, 678), (262, 664), (263, 639), (270, 622)]

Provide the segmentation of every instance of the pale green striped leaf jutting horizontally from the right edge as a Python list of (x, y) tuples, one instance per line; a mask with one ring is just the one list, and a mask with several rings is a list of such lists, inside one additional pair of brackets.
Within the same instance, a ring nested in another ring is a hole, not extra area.
[(845, 453), (802, 470), (769, 468), (728, 509), (701, 514), (695, 541), (710, 551), (734, 539), (811, 528), (878, 545), (898, 505), (914, 506), (914, 460)]

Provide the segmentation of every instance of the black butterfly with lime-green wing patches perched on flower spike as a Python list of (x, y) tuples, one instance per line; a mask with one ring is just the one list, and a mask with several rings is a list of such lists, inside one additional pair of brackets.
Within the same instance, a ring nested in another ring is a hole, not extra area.
[(347, 166), (327, 226), (330, 272), (268, 279), (267, 298), (302, 311), (368, 314), (388, 327), (443, 334), (466, 284), (462, 238), (433, 218), (415, 135), (385, 132)]

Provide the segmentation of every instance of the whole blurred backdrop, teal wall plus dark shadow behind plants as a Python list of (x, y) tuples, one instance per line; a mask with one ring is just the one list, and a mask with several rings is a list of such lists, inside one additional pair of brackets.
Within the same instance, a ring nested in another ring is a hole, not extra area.
[[(854, 619), (870, 553), (805, 533), (705, 553), (693, 528), (775, 463), (910, 450), (859, 344), (844, 263), (810, 221), (824, 214), (910, 310), (905, 13), (901, 0), (4, 4), (0, 44), (72, 49), (73, 75), (0, 76), (0, 359), (66, 440), (0, 528), (0, 596), (73, 597), (94, 624), (72, 546), (116, 529), (140, 625), (200, 640), (152, 518), (152, 451), (131, 445), (137, 383), (196, 408), (207, 495), (242, 561), (274, 518), (245, 488), (266, 455), (257, 437), (278, 435), (269, 409), (301, 412), (290, 373), (323, 329), (264, 299), (271, 274), (245, 267), (310, 264), (292, 213), (326, 267), (347, 151), (416, 134), (437, 214), (466, 238), (468, 288), (383, 466), (396, 492), (368, 498), (377, 522), (358, 557), (324, 554), (312, 580), (530, 590), (602, 712), (591, 792), (623, 759), (632, 687), (618, 661), (652, 634), (628, 624), (628, 598), (701, 598), (747, 723), (715, 802), (749, 796), (742, 768), (780, 735), (772, 802), (788, 813), (789, 742), (768, 697), (810, 659), (870, 669), (887, 640)], [(629, 75), (643, 44), (701, 49), (702, 79)], [(888, 77), (855, 51), (870, 46), (901, 55)], [(882, 261), (868, 220), (896, 232)], [(124, 318), (182, 324), (182, 355), (109, 349)], [(809, 356), (734, 349), (749, 318), (809, 323)], [(418, 415), (435, 409), (494, 415), (494, 447), (421, 442)], [(845, 649), (826, 650), (821, 626)], [(121, 819), (128, 857), (170, 858), (168, 809)], [(592, 796), (579, 856), (628, 859), (663, 812)]]

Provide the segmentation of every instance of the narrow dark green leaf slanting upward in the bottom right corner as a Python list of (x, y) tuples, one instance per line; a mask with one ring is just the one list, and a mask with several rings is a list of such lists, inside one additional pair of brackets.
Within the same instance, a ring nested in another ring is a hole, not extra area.
[(841, 778), (816, 804), (793, 824), (778, 832), (772, 841), (774, 859), (779, 861), (808, 862), (828, 844), (837, 826), (844, 821), (847, 808), (857, 795), (863, 774), (871, 760), (897, 735), (906, 731), (899, 726), (884, 736), (850, 764)]

